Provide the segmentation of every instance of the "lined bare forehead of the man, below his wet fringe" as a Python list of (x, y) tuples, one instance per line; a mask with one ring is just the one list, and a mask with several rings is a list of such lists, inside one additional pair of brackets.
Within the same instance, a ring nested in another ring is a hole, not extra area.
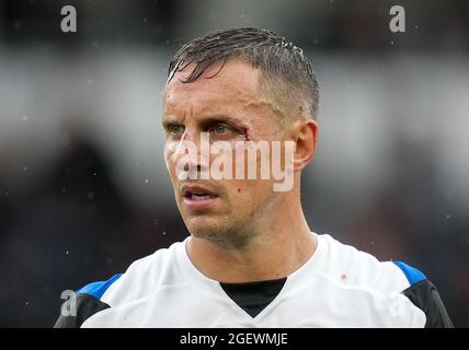
[[(193, 70), (188, 66), (172, 78), (164, 89), (164, 114), (229, 114), (259, 108), (263, 101), (259, 92), (260, 70), (239, 60), (217, 62), (196, 81), (182, 83)], [(215, 77), (214, 77), (215, 75)]]

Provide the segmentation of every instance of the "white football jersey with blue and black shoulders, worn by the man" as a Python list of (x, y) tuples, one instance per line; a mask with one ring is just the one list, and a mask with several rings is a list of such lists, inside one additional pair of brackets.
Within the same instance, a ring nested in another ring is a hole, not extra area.
[(56, 327), (450, 327), (419, 270), (378, 261), (330, 235), (286, 278), (220, 283), (198, 271), (187, 237), (68, 301)]

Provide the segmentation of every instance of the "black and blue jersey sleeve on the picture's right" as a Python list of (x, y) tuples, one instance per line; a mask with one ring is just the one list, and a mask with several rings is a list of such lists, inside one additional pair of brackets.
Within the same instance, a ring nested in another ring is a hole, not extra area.
[(405, 275), (410, 284), (402, 294), (425, 313), (425, 328), (453, 328), (451, 319), (435, 285), (421, 271), (405, 262), (394, 264)]

